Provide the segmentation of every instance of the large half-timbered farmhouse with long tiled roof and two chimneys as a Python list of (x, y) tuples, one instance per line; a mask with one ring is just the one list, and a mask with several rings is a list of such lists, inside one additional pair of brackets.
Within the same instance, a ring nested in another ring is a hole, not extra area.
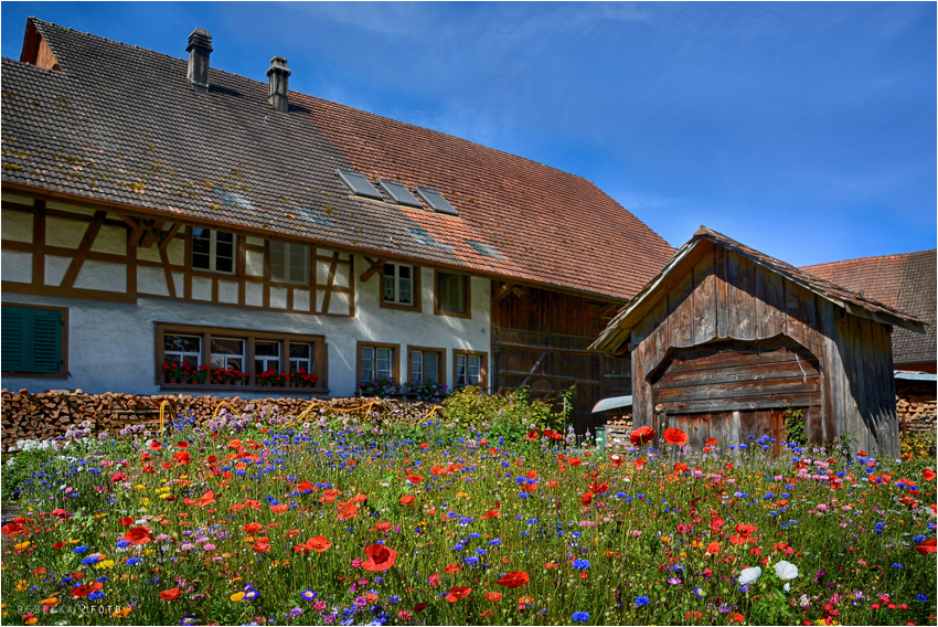
[[(589, 181), (30, 19), (2, 61), (4, 387), (628, 393), (591, 339), (673, 248)], [(234, 45), (234, 44), (222, 44)], [(316, 375), (315, 378), (312, 375)]]

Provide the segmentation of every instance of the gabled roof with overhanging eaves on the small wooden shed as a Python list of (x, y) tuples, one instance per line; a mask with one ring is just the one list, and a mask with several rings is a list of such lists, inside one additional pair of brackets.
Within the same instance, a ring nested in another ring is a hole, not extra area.
[(716, 244), (747, 257), (766, 269), (769, 269), (788, 280), (809, 289), (821, 298), (843, 308), (849, 314), (915, 330), (919, 333), (924, 331), (921, 320), (899, 311), (895, 307), (891, 307), (866, 296), (844, 289), (829, 280), (817, 277), (803, 269), (776, 259), (775, 257), (770, 257), (755, 248), (740, 244), (735, 240), (731, 240), (726, 235), (717, 233), (706, 226), (701, 226), (700, 230), (694, 233), (694, 236), (691, 237), (686, 244), (681, 246), (674, 256), (671, 257), (671, 261), (668, 262), (664, 269), (651, 279), (642, 288), (638, 296), (630, 300), (628, 305), (626, 305), (626, 307), (622, 308), (622, 310), (609, 322), (589, 349), (614, 353), (619, 351), (628, 341), (632, 328), (644, 317), (644, 315), (658, 302), (660, 298), (668, 294), (670, 289), (670, 281), (668, 280), (669, 277), (672, 274), (684, 272), (681, 269), (683, 267), (681, 262), (690, 257), (695, 251), (700, 251), (702, 246), (712, 247)]

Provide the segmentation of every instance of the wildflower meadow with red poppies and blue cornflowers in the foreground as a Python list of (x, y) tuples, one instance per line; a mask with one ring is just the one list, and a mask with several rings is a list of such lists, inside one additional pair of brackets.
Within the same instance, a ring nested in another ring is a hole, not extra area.
[(599, 449), (484, 403), (412, 425), (255, 407), (20, 453), (3, 624), (936, 623), (932, 458), (648, 427)]

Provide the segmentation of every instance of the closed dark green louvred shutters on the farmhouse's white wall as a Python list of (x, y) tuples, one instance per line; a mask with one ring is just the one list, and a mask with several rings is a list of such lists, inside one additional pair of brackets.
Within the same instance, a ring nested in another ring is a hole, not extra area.
[(62, 312), (3, 307), (3, 372), (56, 374), (62, 371)]

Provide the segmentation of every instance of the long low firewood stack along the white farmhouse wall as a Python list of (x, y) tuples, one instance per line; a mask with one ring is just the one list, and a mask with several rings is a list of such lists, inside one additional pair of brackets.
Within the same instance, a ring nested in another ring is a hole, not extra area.
[[(209, 419), (215, 413), (218, 404), (224, 402), (230, 412), (239, 414), (247, 412), (248, 405), (259, 412), (274, 407), (281, 416), (298, 416), (310, 406), (311, 398), (241, 398), (191, 396), (188, 394), (167, 394), (157, 396), (138, 396), (134, 394), (106, 393), (85, 394), (81, 390), (51, 390), (30, 394), (25, 389), (19, 392), (2, 390), (2, 447), (4, 451), (15, 450), (17, 442), (24, 439), (49, 439), (64, 436), (66, 432), (78, 428), (89, 428), (94, 433), (108, 431), (117, 433), (125, 426), (136, 424), (156, 425), (159, 423), (159, 410), (163, 401), (171, 403), (171, 413), (185, 417), (194, 412), (198, 421)], [(379, 398), (331, 398), (316, 400), (335, 410), (362, 407), (370, 401)], [(414, 423), (426, 417), (435, 406), (434, 403), (412, 402), (406, 400), (383, 400), (382, 406), (372, 405), (369, 417), (379, 413), (375, 422)], [(350, 412), (364, 414), (365, 412)], [(441, 411), (437, 411), (434, 419), (441, 419)], [(311, 422), (311, 421), (310, 421)]]

